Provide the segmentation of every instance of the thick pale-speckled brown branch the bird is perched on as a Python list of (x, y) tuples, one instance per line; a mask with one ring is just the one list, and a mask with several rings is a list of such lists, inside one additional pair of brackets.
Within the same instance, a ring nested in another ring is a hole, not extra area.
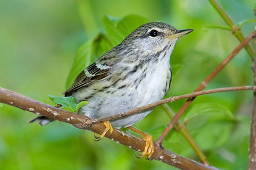
[[(40, 101), (36, 101), (32, 98), (17, 94), (16, 92), (12, 92), (1, 87), (0, 102), (18, 107), (23, 110), (34, 112), (34, 114), (44, 115), (45, 117), (49, 117), (54, 120), (73, 124), (73, 126), (77, 128), (87, 129), (89, 131), (96, 132), (97, 134), (101, 134), (105, 129), (103, 123), (93, 124), (89, 126), (90, 121), (88, 121), (88, 117), (84, 115), (74, 114), (66, 110), (59, 109), (57, 107), (49, 106), (48, 104), (41, 103)], [(134, 137), (129, 134), (125, 134), (124, 132), (119, 131), (115, 128), (112, 134), (107, 133), (105, 137), (110, 138), (117, 143), (124, 144), (135, 151), (143, 151), (145, 147), (144, 140), (141, 140), (140, 138)], [(167, 151), (166, 149), (161, 148), (157, 145), (155, 145), (154, 154), (151, 158), (162, 161), (163, 163), (180, 169), (217, 169), (213, 166), (205, 166), (197, 161), (181, 157), (180, 155)]]

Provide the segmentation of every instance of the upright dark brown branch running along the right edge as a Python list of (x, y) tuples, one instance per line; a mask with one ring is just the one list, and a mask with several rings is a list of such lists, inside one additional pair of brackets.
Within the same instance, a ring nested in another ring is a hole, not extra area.
[[(255, 21), (256, 21), (256, 9), (254, 9)], [(255, 25), (256, 30), (256, 25)], [(256, 39), (255, 39), (255, 58), (256, 58)], [(256, 60), (252, 64), (252, 70), (254, 72), (254, 85), (256, 84)], [(249, 161), (248, 169), (256, 169), (256, 92), (254, 90), (254, 107), (252, 109), (252, 124), (251, 124), (251, 136), (250, 136), (250, 148), (249, 148)]]

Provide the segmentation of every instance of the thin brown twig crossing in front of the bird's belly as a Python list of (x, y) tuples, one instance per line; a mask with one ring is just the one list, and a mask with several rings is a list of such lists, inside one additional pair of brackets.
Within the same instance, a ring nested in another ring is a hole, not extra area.
[(219, 93), (219, 92), (230, 92), (230, 91), (238, 91), (238, 90), (255, 90), (255, 89), (256, 89), (256, 86), (239, 86), (239, 87), (224, 87), (224, 88), (218, 88), (218, 89), (204, 90), (204, 91), (201, 91), (201, 92), (193, 92), (191, 94), (179, 95), (179, 96), (165, 98), (165, 99), (157, 101), (155, 103), (147, 104), (145, 106), (137, 107), (135, 109), (130, 109), (127, 112), (112, 115), (112, 116), (109, 116), (109, 117), (93, 119), (93, 120), (91, 120), (91, 122), (93, 124), (95, 124), (95, 123), (101, 123), (103, 121), (116, 120), (118, 118), (127, 117), (129, 115), (141, 112), (141, 111), (146, 110), (146, 109), (151, 109), (152, 107), (155, 107), (155, 106), (158, 106), (158, 105), (161, 105), (161, 104), (165, 104), (165, 103), (168, 103), (168, 102), (173, 102), (173, 101), (176, 101), (176, 100), (182, 100), (184, 98), (194, 98), (194, 97), (197, 97), (199, 95), (215, 94), (215, 93)]

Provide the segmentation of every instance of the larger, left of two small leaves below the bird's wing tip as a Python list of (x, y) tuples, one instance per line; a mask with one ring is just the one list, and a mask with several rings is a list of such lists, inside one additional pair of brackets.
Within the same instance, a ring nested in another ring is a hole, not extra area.
[(71, 110), (73, 110), (72, 112), (74, 112), (74, 110), (76, 110), (76, 107), (77, 107), (76, 98), (74, 98), (74, 97), (59, 97), (59, 96), (52, 96), (52, 95), (48, 95), (48, 96), (53, 103), (61, 104), (62, 109), (63, 109), (63, 107), (70, 107)]

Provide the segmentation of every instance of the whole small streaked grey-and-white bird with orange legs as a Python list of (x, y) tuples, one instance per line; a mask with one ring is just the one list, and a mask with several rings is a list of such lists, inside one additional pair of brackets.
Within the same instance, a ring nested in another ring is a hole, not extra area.
[[(164, 22), (148, 22), (130, 33), (118, 46), (113, 47), (76, 77), (65, 92), (65, 97), (76, 98), (77, 103), (88, 101), (79, 114), (91, 119), (116, 115), (127, 110), (162, 100), (167, 94), (172, 71), (169, 64), (172, 50), (182, 36), (193, 29), (178, 30)], [(117, 120), (105, 121), (105, 131), (113, 127), (128, 127), (144, 136), (146, 147), (141, 157), (154, 153), (152, 137), (132, 127), (152, 109)], [(41, 116), (32, 121), (41, 125), (52, 120)]]

